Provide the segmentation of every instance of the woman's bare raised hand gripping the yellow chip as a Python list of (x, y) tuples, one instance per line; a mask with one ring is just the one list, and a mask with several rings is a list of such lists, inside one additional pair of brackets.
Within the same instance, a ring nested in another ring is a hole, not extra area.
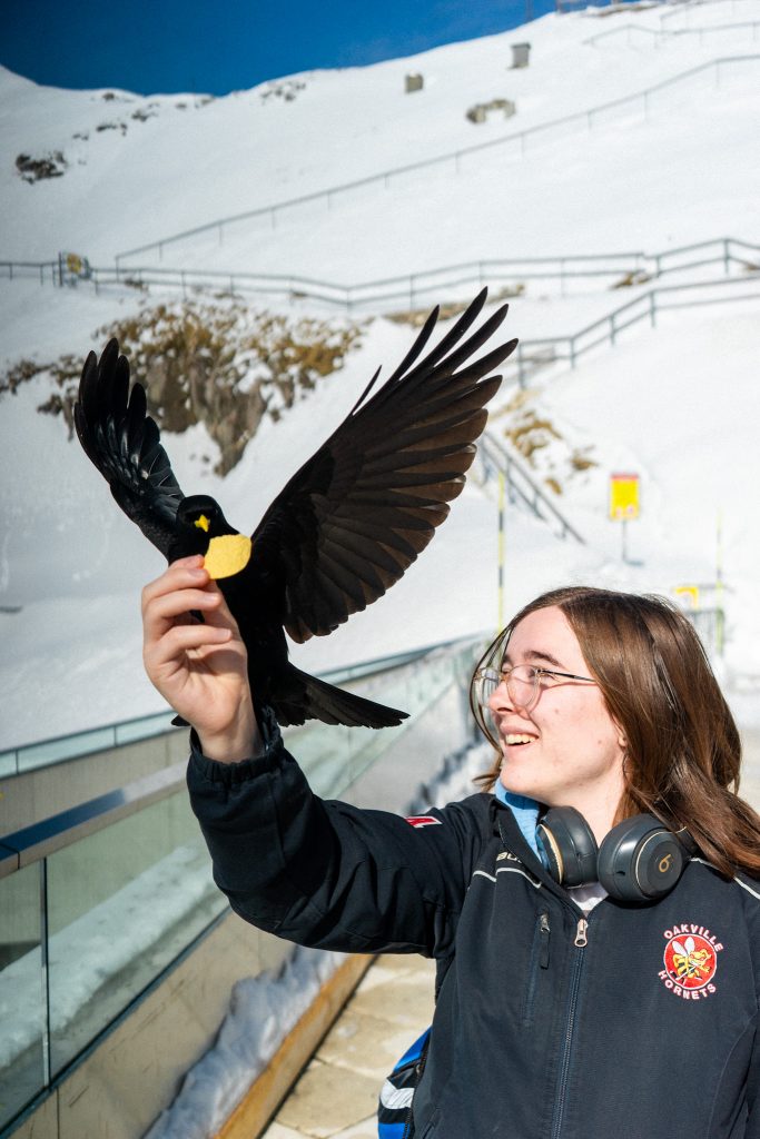
[[(204, 623), (191, 616), (203, 614)], [(198, 734), (209, 759), (256, 755), (247, 653), (203, 558), (174, 562), (142, 590), (142, 659), (150, 682)]]

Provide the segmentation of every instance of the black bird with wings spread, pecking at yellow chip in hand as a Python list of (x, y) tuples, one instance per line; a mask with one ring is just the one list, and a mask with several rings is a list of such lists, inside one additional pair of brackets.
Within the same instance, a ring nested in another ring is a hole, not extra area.
[(416, 363), (439, 310), (430, 314), (391, 378), (370, 398), (378, 369), (251, 539), (227, 522), (214, 499), (185, 497), (147, 413), (145, 388), (136, 383), (130, 392), (117, 342), (99, 361), (95, 352), (87, 359), (74, 407), (84, 451), (169, 562), (204, 555), (245, 641), (256, 704), (269, 704), (281, 724), (317, 719), (384, 728), (406, 719), (296, 669), (285, 632), (301, 644), (365, 609), (399, 581), (447, 517), (475, 457), (484, 405), (501, 382), (489, 372), (517, 344), (472, 359), (507, 312), (502, 305), (465, 338), (485, 296), (483, 289)]

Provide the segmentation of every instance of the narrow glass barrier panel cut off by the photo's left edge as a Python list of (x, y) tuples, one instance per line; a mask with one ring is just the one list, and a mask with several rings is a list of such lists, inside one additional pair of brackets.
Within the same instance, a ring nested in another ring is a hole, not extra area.
[(36, 862), (0, 879), (0, 1128), (47, 1082), (43, 870)]

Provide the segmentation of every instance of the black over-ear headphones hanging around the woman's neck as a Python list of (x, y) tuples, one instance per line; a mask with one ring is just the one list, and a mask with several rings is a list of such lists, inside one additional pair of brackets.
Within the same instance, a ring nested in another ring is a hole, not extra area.
[(668, 894), (696, 852), (684, 830), (669, 830), (653, 814), (624, 819), (597, 846), (594, 831), (573, 806), (553, 806), (539, 820), (541, 861), (559, 885), (598, 882), (621, 902), (649, 902)]

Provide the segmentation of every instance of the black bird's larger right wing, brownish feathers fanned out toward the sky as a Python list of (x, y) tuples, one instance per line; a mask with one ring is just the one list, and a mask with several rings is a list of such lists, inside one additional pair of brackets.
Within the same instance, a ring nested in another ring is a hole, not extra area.
[(370, 398), (375, 375), (253, 534), (254, 562), (277, 584), (295, 641), (329, 633), (399, 581), (461, 492), (501, 382), (489, 374), (517, 343), (473, 359), (507, 312), (502, 305), (465, 338), (485, 296), (417, 363), (438, 319), (431, 313), (391, 378)]

